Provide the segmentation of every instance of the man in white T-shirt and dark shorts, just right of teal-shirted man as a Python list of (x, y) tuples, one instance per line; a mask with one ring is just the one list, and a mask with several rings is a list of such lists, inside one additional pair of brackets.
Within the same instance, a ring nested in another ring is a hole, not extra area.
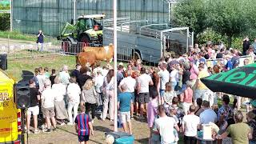
[(138, 103), (140, 104), (140, 114), (141, 118), (143, 118), (144, 104), (150, 102), (150, 90), (149, 86), (153, 85), (152, 78), (150, 75), (146, 74), (146, 69), (144, 67), (141, 68), (141, 75), (138, 77)]

